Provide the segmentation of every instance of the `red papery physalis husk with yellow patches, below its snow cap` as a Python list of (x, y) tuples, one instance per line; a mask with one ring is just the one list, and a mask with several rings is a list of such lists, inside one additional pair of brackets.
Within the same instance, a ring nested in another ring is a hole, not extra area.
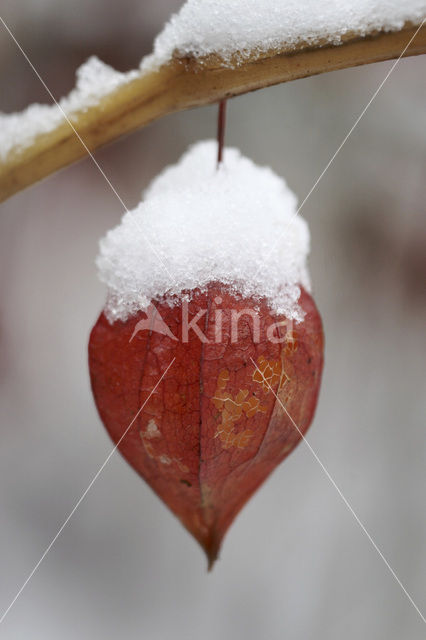
[[(119, 450), (202, 545), (211, 566), (237, 513), (308, 429), (324, 341), (320, 315), (303, 289), (305, 317), (292, 326), (265, 301), (236, 298), (217, 283), (185, 304), (208, 343), (191, 327), (182, 336), (182, 304), (160, 301), (164, 330), (142, 329), (144, 312), (113, 324), (101, 313), (89, 365), (99, 414), (115, 443), (146, 402)], [(232, 335), (232, 313), (243, 309), (258, 316), (258, 335), (248, 314)]]

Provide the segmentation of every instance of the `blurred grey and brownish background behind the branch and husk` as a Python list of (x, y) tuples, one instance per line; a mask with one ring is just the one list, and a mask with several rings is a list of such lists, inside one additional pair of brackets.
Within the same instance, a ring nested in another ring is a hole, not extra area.
[[(2, 0), (59, 97), (97, 54), (137, 66), (177, 0)], [(303, 199), (391, 63), (229, 105), (227, 143)], [(0, 110), (47, 102), (0, 25)], [(426, 610), (424, 59), (401, 61), (303, 208), (326, 367), (309, 441)], [(97, 154), (128, 207), (216, 109), (168, 117)], [(1, 205), (0, 609), (111, 451), (86, 345), (94, 266), (120, 203), (90, 160)], [(425, 626), (302, 443), (246, 506), (213, 573), (117, 454), (0, 627), (13, 639), (417, 640)]]

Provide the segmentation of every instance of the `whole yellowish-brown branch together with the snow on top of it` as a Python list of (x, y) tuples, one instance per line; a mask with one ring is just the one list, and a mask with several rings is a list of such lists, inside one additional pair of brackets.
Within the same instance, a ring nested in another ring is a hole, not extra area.
[(188, 0), (140, 69), (90, 58), (58, 104), (0, 114), (0, 201), (169, 113), (425, 53), (425, 18), (425, 0)]

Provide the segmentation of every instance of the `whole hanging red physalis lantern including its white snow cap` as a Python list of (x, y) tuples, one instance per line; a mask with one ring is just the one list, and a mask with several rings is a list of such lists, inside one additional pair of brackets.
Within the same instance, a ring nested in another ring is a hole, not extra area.
[(284, 180), (198, 143), (101, 241), (93, 393), (128, 463), (205, 549), (308, 429), (323, 365), (309, 232)]

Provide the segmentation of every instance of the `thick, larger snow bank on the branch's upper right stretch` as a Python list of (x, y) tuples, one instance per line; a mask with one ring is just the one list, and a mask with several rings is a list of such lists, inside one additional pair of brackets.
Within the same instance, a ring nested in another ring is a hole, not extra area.
[(187, 0), (141, 64), (155, 68), (175, 53), (235, 63), (283, 44), (340, 44), (348, 33), (394, 31), (425, 17), (425, 0)]

